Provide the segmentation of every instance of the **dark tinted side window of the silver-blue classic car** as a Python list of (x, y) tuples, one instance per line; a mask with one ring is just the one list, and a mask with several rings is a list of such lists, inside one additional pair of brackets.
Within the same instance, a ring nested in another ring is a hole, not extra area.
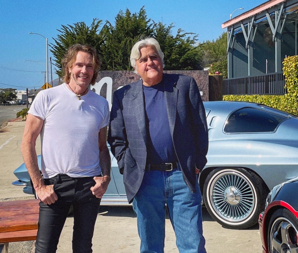
[(257, 108), (242, 108), (232, 113), (226, 125), (226, 133), (274, 132), (287, 117)]

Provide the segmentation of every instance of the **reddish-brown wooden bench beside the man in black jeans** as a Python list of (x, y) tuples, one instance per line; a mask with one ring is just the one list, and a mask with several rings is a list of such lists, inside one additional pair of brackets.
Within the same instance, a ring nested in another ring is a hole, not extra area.
[(39, 199), (0, 202), (0, 252), (10, 242), (36, 240)]

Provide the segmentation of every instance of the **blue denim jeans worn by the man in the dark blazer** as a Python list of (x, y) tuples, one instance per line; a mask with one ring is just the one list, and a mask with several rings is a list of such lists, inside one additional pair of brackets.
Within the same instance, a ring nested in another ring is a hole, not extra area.
[(180, 253), (206, 253), (202, 229), (201, 192), (192, 193), (180, 170), (146, 171), (133, 200), (141, 253), (163, 253), (168, 210)]

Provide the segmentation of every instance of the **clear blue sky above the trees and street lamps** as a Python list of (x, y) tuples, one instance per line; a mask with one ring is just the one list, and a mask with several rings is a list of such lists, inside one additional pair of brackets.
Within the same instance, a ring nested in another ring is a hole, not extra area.
[[(46, 40), (57, 38), (61, 25), (85, 22), (88, 26), (93, 18), (114, 23), (120, 10), (129, 9), (138, 13), (143, 5), (148, 18), (175, 25), (173, 35), (181, 28), (185, 32), (198, 34), (200, 42), (215, 40), (226, 29), (221, 24), (248, 11), (265, 1), (262, 0), (0, 0), (0, 88), (40, 88), (44, 84), (46, 70)], [(49, 48), (50, 49), (50, 48)], [(52, 54), (49, 52), (49, 57)], [(35, 63), (37, 61), (40, 63)], [(52, 57), (52, 61), (54, 58)], [(43, 64), (42, 64), (43, 63)], [(53, 79), (57, 78), (53, 66)], [(49, 69), (49, 81), (50, 81)]]

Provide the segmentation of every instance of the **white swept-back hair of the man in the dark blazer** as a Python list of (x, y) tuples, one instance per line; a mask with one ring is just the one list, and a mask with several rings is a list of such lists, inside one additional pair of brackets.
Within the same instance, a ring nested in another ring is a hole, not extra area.
[[(159, 57), (162, 59), (162, 65), (164, 66), (164, 53), (160, 49), (159, 43), (156, 39), (154, 38), (146, 38), (144, 40), (138, 41), (136, 44), (131, 49), (131, 56), (130, 56), (130, 61), (131, 61), (131, 66), (136, 69), (136, 60), (139, 60), (141, 57), (140, 55), (140, 50), (143, 47), (147, 46), (154, 46)], [(137, 71), (134, 71), (137, 74)]]

